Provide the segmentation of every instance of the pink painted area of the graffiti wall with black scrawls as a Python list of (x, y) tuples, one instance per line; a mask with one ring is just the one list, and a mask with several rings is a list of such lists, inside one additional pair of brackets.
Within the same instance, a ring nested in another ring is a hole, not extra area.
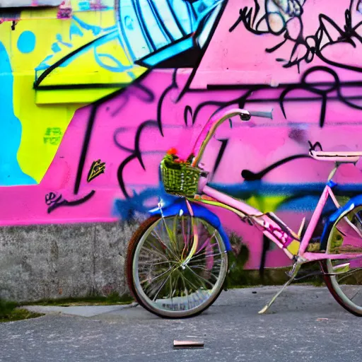
[[(350, 2), (339, 1), (338, 6), (329, 3), (305, 1), (304, 37), (317, 33), (320, 14), (332, 18), (344, 29)], [(243, 1), (243, 6), (255, 11), (255, 1)], [(354, 28), (362, 14), (356, 7), (351, 13)], [(256, 35), (252, 30), (267, 29), (261, 28), (262, 22), (258, 29), (251, 25), (248, 30), (240, 23), (230, 31), (239, 14), (239, 4), (229, 1), (195, 71), (153, 69), (132, 86), (78, 110), (40, 185), (0, 188), (2, 204), (6, 205), (0, 209), (0, 224), (116, 221), (115, 200), (132, 199), (146, 189), (157, 189), (158, 165), (165, 151), (175, 147), (182, 158), (187, 157), (208, 119), (228, 107), (273, 109), (274, 120), (254, 119), (242, 124), (233, 119), (218, 129), (202, 161), (211, 172), (217, 164), (212, 182), (219, 185), (247, 184), (241, 176), (242, 170), (257, 174), (284, 158), (307, 155), (308, 141), (320, 142), (326, 151), (362, 150), (361, 132), (358, 132), (362, 127), (362, 103), (358, 98), (362, 71), (355, 69), (362, 59), (361, 44), (353, 39), (356, 46), (351, 47), (351, 42), (344, 39), (345, 42), (333, 42), (323, 48), (322, 57), (314, 50), (313, 57), (308, 55), (308, 58), (305, 54), (311, 50), (305, 44), (298, 44), (296, 54), (292, 52), (293, 41), (288, 40), (274, 52), (266, 52), (283, 42), (286, 32), (300, 33), (300, 24), (295, 23), (298, 17), (289, 16), (290, 22), (285, 29), (278, 28), (278, 35), (268, 31)], [(263, 16), (265, 13), (257, 15)], [(328, 28), (333, 25), (325, 18), (322, 21)], [(342, 36), (336, 29), (334, 26), (337, 31), (334, 40)], [(284, 67), (298, 57), (305, 59)], [(303, 78), (305, 72), (309, 73)], [(218, 160), (225, 140), (227, 146)], [(88, 180), (96, 160), (105, 163), (105, 170)], [(258, 189), (252, 189), (250, 197), (259, 197), (256, 202), (261, 204), (264, 201), (276, 204), (275, 199), (288, 194), (287, 187), (312, 185), (313, 188), (325, 182), (331, 170), (329, 163), (296, 158), (271, 168), (257, 179), (260, 185), (273, 190), (271, 201), (265, 201), (268, 197), (259, 195)], [(336, 181), (361, 185), (361, 171), (352, 165), (341, 166)], [(150, 207), (154, 202), (150, 200)], [(57, 207), (49, 212), (49, 206), (54, 205)], [(212, 210), (252, 250), (246, 267), (257, 268), (262, 235), (256, 236), (255, 229), (240, 223), (236, 216)], [(278, 212), (292, 228), (300, 226), (305, 214), (308, 210)], [(289, 263), (280, 250), (269, 253), (267, 267)]]

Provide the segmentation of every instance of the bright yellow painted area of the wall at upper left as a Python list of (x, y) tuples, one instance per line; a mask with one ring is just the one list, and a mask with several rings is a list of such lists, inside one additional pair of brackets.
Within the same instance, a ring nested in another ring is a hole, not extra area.
[[(38, 183), (74, 112), (127, 86), (146, 70), (130, 63), (122, 51), (113, 9), (77, 12), (76, 0), (71, 6), (74, 18), (58, 20), (57, 8), (32, 9), (21, 12), (15, 30), (11, 22), (0, 25), (0, 42), (13, 72), (13, 112), (21, 122), (18, 163)], [(30, 52), (18, 48), (25, 32), (35, 35)], [(107, 41), (98, 44), (103, 36)], [(88, 49), (93, 42), (96, 46)], [(119, 64), (124, 71), (113, 71)]]

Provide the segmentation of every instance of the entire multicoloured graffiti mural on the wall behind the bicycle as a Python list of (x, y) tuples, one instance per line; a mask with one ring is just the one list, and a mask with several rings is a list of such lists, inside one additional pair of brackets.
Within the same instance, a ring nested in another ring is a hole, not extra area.
[[(211, 183), (298, 229), (332, 170), (309, 149), (362, 150), (361, 4), (72, 0), (19, 8), (15, 27), (0, 13), (1, 225), (146, 214), (172, 198), (165, 151), (187, 156), (209, 117), (245, 107), (274, 120), (223, 124), (203, 159)], [(337, 181), (337, 195), (362, 193), (358, 167)], [(289, 263), (213, 211), (250, 250), (246, 268)]]

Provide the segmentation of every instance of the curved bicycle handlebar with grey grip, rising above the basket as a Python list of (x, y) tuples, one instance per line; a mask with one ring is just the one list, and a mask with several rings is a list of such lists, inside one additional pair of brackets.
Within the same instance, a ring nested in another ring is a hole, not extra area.
[[(218, 126), (225, 122), (226, 119), (230, 119), (231, 117), (234, 117), (236, 115), (239, 115), (242, 121), (249, 121), (250, 117), (264, 117), (273, 119), (273, 115), (271, 114), (271, 112), (247, 111), (240, 110), (239, 108), (227, 111), (226, 113), (224, 113), (223, 117), (221, 117), (217, 121), (212, 122), (211, 119), (209, 119), (209, 122), (206, 123), (204, 129), (202, 129), (202, 132), (199, 134), (199, 137), (197, 138), (197, 141), (194, 145), (194, 149), (192, 150), (192, 154), (195, 155), (197, 153), (192, 162), (192, 166), (198, 165), (207, 144), (209, 143), (211, 137), (214, 135)], [(205, 132), (206, 136), (204, 136)], [(201, 140), (202, 144), (199, 144)]]

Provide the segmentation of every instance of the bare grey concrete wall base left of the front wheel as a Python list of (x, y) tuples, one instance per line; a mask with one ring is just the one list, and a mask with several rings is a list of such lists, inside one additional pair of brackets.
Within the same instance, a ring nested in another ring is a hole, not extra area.
[(136, 223), (0, 228), (0, 299), (128, 293), (124, 258)]

